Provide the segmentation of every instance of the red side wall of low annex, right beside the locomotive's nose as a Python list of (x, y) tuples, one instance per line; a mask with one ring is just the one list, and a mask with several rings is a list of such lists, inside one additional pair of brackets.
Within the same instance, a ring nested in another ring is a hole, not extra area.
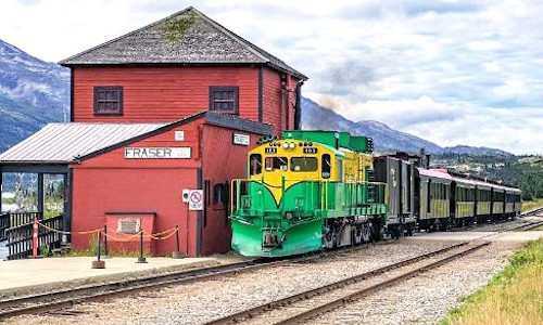
[[(249, 146), (233, 145), (233, 133), (251, 136)], [(223, 205), (214, 205), (214, 187), (232, 179), (245, 178), (247, 153), (256, 146), (261, 134), (204, 126), (203, 132), (203, 180), (210, 181), (211, 197), (206, 208), (206, 225), (203, 229), (202, 253), (226, 252), (230, 250), (231, 230)]]

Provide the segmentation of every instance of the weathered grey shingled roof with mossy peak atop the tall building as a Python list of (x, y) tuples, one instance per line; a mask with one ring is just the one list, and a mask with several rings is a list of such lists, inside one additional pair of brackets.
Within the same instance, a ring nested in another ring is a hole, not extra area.
[(60, 62), (75, 65), (261, 64), (307, 79), (192, 6)]

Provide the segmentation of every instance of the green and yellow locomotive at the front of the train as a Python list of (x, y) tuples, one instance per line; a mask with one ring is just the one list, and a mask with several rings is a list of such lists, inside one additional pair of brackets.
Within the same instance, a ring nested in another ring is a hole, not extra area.
[(248, 154), (231, 183), (232, 248), (281, 257), (381, 236), (387, 186), (370, 181), (372, 142), (334, 131), (285, 131)]

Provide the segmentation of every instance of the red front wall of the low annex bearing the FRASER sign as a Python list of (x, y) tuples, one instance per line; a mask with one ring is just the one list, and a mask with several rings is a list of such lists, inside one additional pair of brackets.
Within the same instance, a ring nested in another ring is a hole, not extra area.
[[(154, 211), (154, 231), (162, 232), (178, 224), (181, 252), (195, 256), (197, 213), (188, 211), (180, 194), (182, 188), (197, 188), (197, 170), (201, 167), (199, 125), (202, 121), (192, 121), (128, 145), (190, 146), (191, 159), (125, 159), (124, 148), (117, 148), (73, 166), (72, 230), (101, 227), (105, 223), (105, 211)], [(177, 130), (185, 131), (186, 141), (174, 141)], [(75, 249), (86, 249), (89, 236), (74, 235), (72, 244)], [(175, 250), (175, 236), (154, 240), (153, 252), (168, 255)]]

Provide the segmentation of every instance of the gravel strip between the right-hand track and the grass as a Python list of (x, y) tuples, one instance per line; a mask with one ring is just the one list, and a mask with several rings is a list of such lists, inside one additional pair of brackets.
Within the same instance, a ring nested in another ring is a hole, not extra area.
[(507, 263), (518, 243), (494, 243), (420, 276), (370, 295), (311, 324), (435, 324), (482, 288)]

